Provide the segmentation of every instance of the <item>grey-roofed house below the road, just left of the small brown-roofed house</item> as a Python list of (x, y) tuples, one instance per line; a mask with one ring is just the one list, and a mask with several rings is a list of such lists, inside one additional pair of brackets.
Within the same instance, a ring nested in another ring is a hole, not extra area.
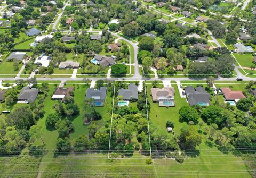
[(18, 103), (33, 103), (38, 95), (38, 89), (23, 87), (18, 97)]

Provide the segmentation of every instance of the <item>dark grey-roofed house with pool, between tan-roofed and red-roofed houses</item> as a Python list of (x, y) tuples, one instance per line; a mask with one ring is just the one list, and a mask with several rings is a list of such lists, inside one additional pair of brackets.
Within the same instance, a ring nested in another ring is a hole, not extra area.
[(206, 107), (210, 105), (211, 96), (203, 87), (185, 87), (185, 93), (189, 106), (199, 105)]

